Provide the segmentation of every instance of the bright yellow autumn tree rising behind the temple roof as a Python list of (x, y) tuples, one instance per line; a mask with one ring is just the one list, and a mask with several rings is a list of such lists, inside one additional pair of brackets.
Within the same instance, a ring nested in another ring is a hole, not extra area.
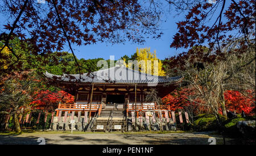
[[(158, 75), (158, 76), (165, 76), (166, 73), (164, 72), (164, 70), (162, 69), (163, 64), (162, 61), (159, 60), (156, 57), (156, 50), (154, 50), (154, 53), (150, 52), (150, 48), (137, 48), (136, 50), (136, 60), (139, 62), (139, 71), (143, 72), (143, 73), (150, 73), (152, 75)], [(128, 64), (126, 64), (126, 60), (123, 60), (125, 66), (127, 68), (132, 69), (133, 68), (133, 64), (131, 64), (131, 62)], [(143, 64), (143, 62), (145, 63), (144, 65), (140, 64), (140, 62)], [(148, 71), (151, 64), (151, 72)]]

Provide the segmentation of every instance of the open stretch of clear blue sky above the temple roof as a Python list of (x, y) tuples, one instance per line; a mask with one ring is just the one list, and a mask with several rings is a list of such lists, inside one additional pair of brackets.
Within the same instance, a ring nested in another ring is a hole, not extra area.
[[(166, 22), (160, 23), (160, 29), (162, 29), (163, 36), (158, 39), (146, 39), (143, 45), (134, 44), (131, 42), (126, 42), (125, 44), (110, 44), (110, 43), (97, 43), (94, 45), (84, 45), (84, 46), (73, 46), (74, 52), (77, 58), (98, 58), (102, 57), (104, 59), (109, 59), (110, 55), (115, 56), (115, 60), (124, 56), (131, 56), (136, 52), (137, 48), (150, 47), (151, 52), (156, 50), (156, 55), (159, 59), (163, 60), (166, 57), (173, 56), (177, 54), (176, 49), (171, 49), (170, 44), (172, 41), (172, 36), (177, 32), (176, 23), (180, 18), (173, 18), (170, 15)], [(67, 48), (68, 49), (68, 48)]]

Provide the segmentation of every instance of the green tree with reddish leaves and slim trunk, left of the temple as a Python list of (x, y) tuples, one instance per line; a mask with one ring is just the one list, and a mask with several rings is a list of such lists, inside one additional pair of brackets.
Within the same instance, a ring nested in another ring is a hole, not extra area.
[(40, 90), (42, 82), (33, 71), (15, 73), (5, 78), (5, 84), (0, 87), (0, 113), (13, 116), (15, 132), (20, 133), (18, 115), (31, 111), (31, 102), (35, 91)]

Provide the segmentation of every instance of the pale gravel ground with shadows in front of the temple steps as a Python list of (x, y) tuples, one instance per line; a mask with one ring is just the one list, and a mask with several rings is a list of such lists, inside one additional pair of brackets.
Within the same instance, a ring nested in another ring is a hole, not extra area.
[[(38, 138), (44, 138), (46, 144), (84, 144), (84, 145), (150, 145), (150, 144), (188, 144), (207, 145), (209, 137), (216, 138), (216, 144), (223, 144), (221, 136), (209, 133), (164, 133), (164, 134), (125, 134), (125, 133), (85, 133), (85, 134), (20, 134), (0, 135), (0, 144), (39, 144)], [(226, 144), (236, 144), (226, 138)]]

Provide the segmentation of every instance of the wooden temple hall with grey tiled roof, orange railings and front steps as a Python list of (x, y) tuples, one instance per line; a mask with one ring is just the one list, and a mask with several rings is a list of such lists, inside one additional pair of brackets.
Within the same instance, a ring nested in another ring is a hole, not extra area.
[(127, 121), (136, 124), (140, 117), (148, 117), (148, 112), (153, 117), (171, 117), (169, 106), (146, 101), (145, 91), (155, 88), (162, 98), (182, 79), (148, 75), (125, 66), (90, 74), (45, 75), (49, 82), (76, 97), (75, 103), (60, 103), (53, 120), (67, 123), (77, 119), (76, 123), (86, 123), (94, 130), (127, 130)]

